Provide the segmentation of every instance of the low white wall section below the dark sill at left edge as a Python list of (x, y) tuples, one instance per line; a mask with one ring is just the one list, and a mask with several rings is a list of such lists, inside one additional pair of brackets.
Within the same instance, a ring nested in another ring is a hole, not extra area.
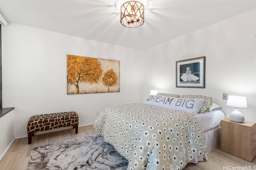
[(14, 141), (14, 114), (15, 110), (12, 110), (0, 118), (0, 159)]

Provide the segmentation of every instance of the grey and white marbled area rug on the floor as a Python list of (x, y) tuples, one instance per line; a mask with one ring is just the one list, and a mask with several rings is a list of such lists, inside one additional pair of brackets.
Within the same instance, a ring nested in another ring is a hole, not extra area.
[(96, 135), (32, 149), (28, 170), (126, 170), (128, 161)]

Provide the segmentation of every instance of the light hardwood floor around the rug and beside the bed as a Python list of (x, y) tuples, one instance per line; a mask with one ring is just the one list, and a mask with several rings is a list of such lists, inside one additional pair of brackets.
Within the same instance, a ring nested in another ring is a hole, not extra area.
[[(52, 133), (45, 133), (32, 137), (32, 144), (28, 145), (28, 138), (15, 139), (10, 149), (6, 152), (0, 161), (0, 170), (26, 170), (30, 152), (33, 147), (62, 142), (75, 137), (81, 137), (94, 134), (92, 125), (78, 128), (78, 134), (74, 129), (66, 129)], [(228, 154), (216, 148), (207, 154), (208, 160), (189, 163), (184, 170), (224, 170), (224, 166), (256, 166), (256, 163), (248, 162), (232, 154)], [(228, 168), (226, 168), (228, 170)]]

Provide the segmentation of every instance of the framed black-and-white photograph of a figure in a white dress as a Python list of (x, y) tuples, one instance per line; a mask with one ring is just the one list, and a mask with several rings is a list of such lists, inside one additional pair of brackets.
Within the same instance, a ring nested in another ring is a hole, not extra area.
[(176, 87), (205, 88), (205, 57), (176, 61)]

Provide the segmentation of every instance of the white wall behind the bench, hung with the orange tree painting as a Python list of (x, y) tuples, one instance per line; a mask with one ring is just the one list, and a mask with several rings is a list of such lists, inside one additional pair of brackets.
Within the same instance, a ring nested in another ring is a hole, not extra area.
[[(118, 36), (118, 35), (117, 35)], [(120, 61), (120, 92), (67, 95), (66, 55)], [(2, 27), (3, 107), (15, 107), (14, 135), (32, 115), (76, 111), (79, 125), (104, 108), (142, 102), (143, 51), (10, 23)]]

